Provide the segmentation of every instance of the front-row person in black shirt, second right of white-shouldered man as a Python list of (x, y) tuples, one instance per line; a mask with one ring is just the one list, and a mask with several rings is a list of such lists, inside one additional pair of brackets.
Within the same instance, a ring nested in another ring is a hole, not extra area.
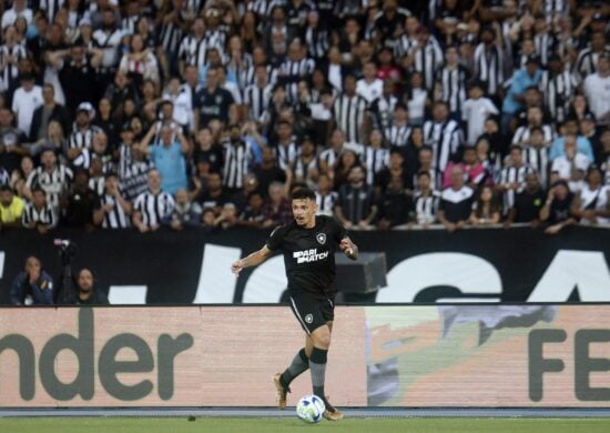
[(514, 222), (529, 223), (531, 228), (540, 224), (540, 210), (547, 194), (540, 187), (538, 174), (530, 171), (526, 174), (526, 188), (515, 199), (515, 205), (508, 210), (505, 228), (510, 228)]

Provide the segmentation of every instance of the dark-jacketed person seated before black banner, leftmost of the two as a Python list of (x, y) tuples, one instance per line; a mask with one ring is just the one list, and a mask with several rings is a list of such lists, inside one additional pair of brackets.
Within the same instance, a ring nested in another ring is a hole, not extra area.
[(53, 279), (42, 270), (40, 259), (30, 255), (26, 269), (13, 280), (10, 291), (13, 305), (53, 304)]

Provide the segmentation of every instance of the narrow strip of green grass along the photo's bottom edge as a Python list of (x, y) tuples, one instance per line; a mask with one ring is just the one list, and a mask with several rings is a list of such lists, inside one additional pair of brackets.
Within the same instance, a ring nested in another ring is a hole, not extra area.
[(610, 432), (610, 419), (346, 419), (305, 424), (296, 419), (264, 417), (42, 417), (0, 419), (0, 432)]

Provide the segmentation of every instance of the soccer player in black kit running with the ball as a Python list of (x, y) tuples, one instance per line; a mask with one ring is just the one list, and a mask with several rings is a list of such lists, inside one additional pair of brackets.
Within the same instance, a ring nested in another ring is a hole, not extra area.
[(333, 407), (324, 393), (326, 355), (337, 293), (335, 251), (338, 246), (349, 259), (357, 260), (358, 248), (336, 220), (326, 215), (316, 216), (316, 195), (311, 189), (301, 188), (292, 193), (292, 209), (294, 221), (276, 228), (261, 250), (237, 260), (231, 270), (238, 274), (244, 268), (263, 263), (274, 251), (284, 253), (291, 308), (307, 335), (305, 348), (301, 349), (286, 371), (273, 376), (277, 405), (279, 409), (286, 407), (291, 382), (311, 369), (314, 394), (326, 404), (324, 417), (337, 421), (343, 413)]

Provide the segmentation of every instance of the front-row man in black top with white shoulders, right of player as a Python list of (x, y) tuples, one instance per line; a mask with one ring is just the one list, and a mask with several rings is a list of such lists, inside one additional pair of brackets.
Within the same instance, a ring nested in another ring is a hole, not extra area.
[(470, 218), (474, 191), (464, 184), (464, 170), (460, 165), (451, 169), (451, 185), (443, 190), (438, 207), (438, 221), (449, 232), (464, 229)]

